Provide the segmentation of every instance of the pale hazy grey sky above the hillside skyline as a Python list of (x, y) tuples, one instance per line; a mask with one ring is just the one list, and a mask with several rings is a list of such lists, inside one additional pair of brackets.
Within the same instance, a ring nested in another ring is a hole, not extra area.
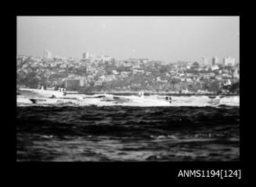
[(18, 16), (17, 55), (85, 51), (164, 62), (240, 58), (239, 16)]

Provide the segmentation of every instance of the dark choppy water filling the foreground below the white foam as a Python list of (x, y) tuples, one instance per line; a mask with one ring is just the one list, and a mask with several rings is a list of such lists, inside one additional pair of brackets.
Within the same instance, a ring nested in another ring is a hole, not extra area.
[(240, 108), (17, 107), (17, 161), (239, 161)]

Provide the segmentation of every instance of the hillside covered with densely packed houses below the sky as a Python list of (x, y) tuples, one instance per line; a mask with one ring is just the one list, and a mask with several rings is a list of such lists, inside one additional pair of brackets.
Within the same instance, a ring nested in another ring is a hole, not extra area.
[[(138, 75), (150, 77), (153, 82), (162, 84), (170, 84), (171, 80), (175, 79), (176, 82), (186, 83), (217, 80), (224, 85), (229, 85), (240, 79), (239, 64), (225, 67), (223, 65), (200, 65), (197, 62), (167, 64), (148, 58), (115, 60), (108, 57), (96, 58), (92, 61), (84, 58), (45, 59), (22, 55), (17, 56), (16, 60), (18, 74), (26, 76), (34, 72), (38, 79), (44, 77), (49, 86), (65, 83), (67, 88), (83, 87), (91, 83), (94, 86), (102, 86), (103, 83), (114, 80), (131, 77), (137, 79)], [(166, 71), (159, 71), (165, 67)]]

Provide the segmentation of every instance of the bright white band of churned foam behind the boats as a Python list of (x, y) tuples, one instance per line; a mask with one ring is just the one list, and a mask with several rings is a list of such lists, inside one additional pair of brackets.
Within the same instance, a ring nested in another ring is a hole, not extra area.
[[(105, 97), (99, 97), (99, 96)], [(114, 96), (112, 94), (70, 94), (67, 98), (75, 98), (71, 105), (78, 106), (135, 106), (135, 107), (219, 107), (220, 105), (227, 106), (240, 106), (240, 96), (226, 96), (226, 97), (215, 97), (210, 98), (208, 96), (171, 96), (171, 103), (165, 100), (164, 96), (153, 95), (145, 96), (143, 98), (136, 96)], [(58, 99), (56, 99), (58, 100)], [(59, 99), (61, 100), (61, 99)], [(63, 100), (63, 99), (62, 99)], [(17, 96), (16, 102), (18, 106), (34, 106), (34, 105), (45, 105), (49, 106), (53, 100), (45, 101), (42, 104), (33, 104), (28, 97)], [(59, 104), (52, 104), (58, 106)], [(63, 104), (61, 104), (63, 106)], [(66, 105), (66, 104), (65, 104)], [(70, 105), (70, 104), (67, 104)]]

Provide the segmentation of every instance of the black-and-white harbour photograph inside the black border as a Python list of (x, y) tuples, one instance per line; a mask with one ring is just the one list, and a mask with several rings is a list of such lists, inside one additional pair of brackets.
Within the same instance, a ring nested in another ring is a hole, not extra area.
[(31, 161), (240, 161), (240, 16), (16, 16)]

